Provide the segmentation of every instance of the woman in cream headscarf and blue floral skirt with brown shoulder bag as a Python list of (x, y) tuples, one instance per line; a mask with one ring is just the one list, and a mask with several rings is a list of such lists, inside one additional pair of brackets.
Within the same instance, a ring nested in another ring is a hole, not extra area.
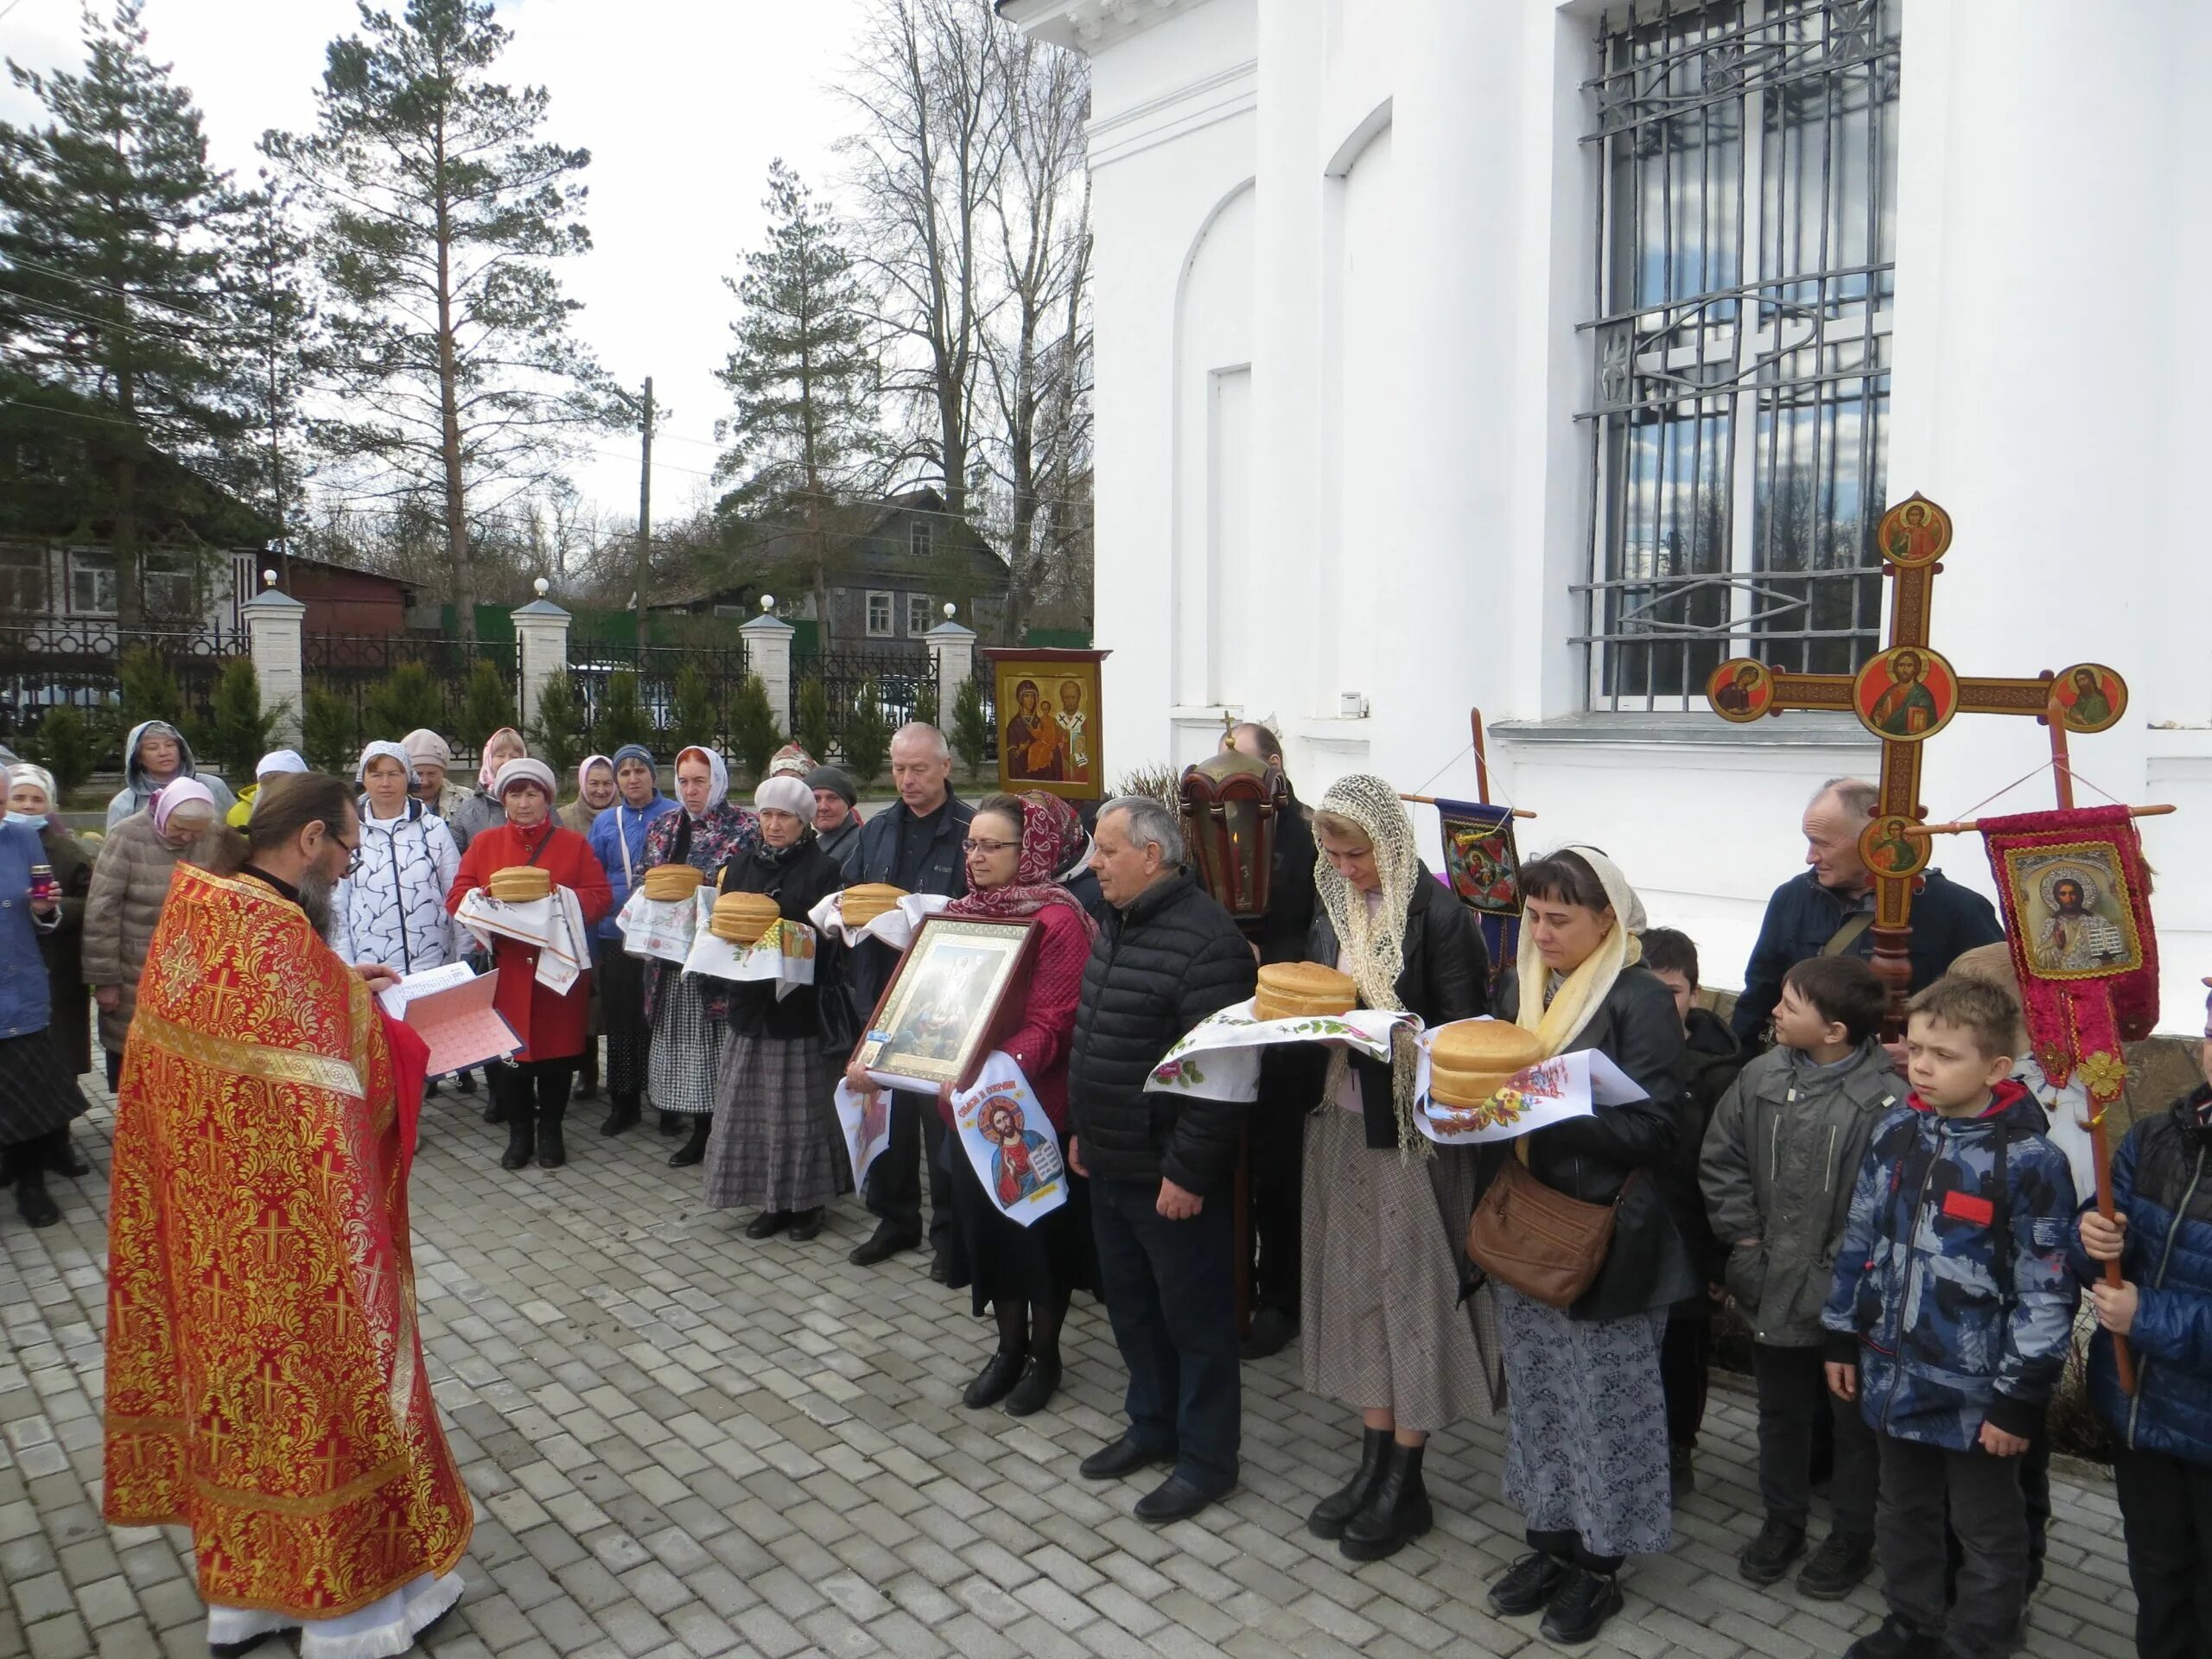
[(1648, 1093), (1597, 1106), (1489, 1150), (1584, 1203), (1619, 1203), (1597, 1281), (1573, 1307), (1493, 1285), (1511, 1425), (1506, 1500), (1531, 1555), (1491, 1586), (1491, 1610), (1544, 1610), (1544, 1635), (1588, 1641), (1621, 1610), (1619, 1568), (1674, 1542), (1659, 1340), (1668, 1307), (1699, 1290), (1668, 1219), (1657, 1170), (1674, 1148), (1681, 1097), (1674, 993), (1641, 967), (1644, 902), (1595, 847), (1522, 865), (1520, 975), (1500, 1013), (1546, 1055), (1595, 1048)]

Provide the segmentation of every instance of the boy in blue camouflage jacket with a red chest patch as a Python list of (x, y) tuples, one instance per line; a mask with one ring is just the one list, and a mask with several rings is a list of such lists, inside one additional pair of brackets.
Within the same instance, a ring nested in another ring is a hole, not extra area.
[[(1889, 1617), (1847, 1659), (2000, 1659), (2028, 1590), (2017, 1458), (2066, 1367), (2073, 1175), (2013, 1082), (2020, 1004), (1944, 978), (1911, 1002), (1905, 1106), (1874, 1130), (1820, 1325), (1874, 1429)], [(1964, 1551), (1944, 1610), (1944, 1504)]]

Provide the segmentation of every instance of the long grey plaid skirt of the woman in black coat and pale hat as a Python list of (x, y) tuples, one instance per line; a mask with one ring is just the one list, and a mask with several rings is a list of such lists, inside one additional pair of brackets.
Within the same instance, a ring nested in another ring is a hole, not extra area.
[(706, 1141), (710, 1210), (814, 1210), (852, 1192), (832, 1104), (838, 1073), (818, 1042), (732, 1035), (723, 1044)]

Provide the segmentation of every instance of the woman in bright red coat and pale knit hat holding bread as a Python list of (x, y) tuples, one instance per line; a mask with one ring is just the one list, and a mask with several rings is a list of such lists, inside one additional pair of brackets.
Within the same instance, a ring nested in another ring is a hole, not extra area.
[[(445, 896), (447, 911), (476, 887), (489, 887), (491, 874), (513, 865), (538, 865), (553, 876), (553, 887), (575, 894), (584, 911), (584, 938), (615, 902), (591, 845), (575, 830), (553, 823), (553, 770), (544, 761), (509, 761), (491, 787), (507, 810), (507, 823), (491, 825), (469, 841), (460, 874)], [(491, 1088), (507, 1104), (507, 1152), (502, 1170), (520, 1170), (538, 1155), (538, 1168), (557, 1170), (568, 1161), (562, 1144), (562, 1119), (568, 1115), (568, 1086), (575, 1082), (577, 1057), (584, 1053), (586, 1009), (591, 1004), (591, 969), (575, 978), (562, 995), (538, 984), (538, 947), (507, 936), (493, 936), (491, 964), (500, 971), (498, 1011), (522, 1037), (522, 1048), (504, 1066), (491, 1068)]]

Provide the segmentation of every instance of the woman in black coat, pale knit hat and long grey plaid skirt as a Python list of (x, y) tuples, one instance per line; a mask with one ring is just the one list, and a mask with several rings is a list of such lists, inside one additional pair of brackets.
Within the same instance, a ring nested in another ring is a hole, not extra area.
[[(768, 894), (785, 922), (845, 885), (836, 858), (814, 836), (814, 796), (792, 776), (754, 792), (761, 834), (739, 845), (717, 874), (723, 894)], [(783, 1228), (794, 1241), (823, 1230), (823, 1208), (852, 1190), (845, 1135), (836, 1124), (843, 1055), (830, 1046), (825, 998), (836, 995), (843, 949), (814, 947), (814, 984), (776, 995), (776, 980), (730, 987), (730, 1037), (714, 1077), (714, 1128), (706, 1144), (706, 1201), (714, 1210), (759, 1206), (748, 1239)]]

